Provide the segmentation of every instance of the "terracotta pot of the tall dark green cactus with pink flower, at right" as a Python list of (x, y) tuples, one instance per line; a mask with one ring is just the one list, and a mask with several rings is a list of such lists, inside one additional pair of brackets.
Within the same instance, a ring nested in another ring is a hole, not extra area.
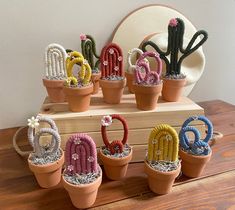
[(165, 101), (178, 101), (182, 95), (186, 79), (163, 79), (162, 98)]

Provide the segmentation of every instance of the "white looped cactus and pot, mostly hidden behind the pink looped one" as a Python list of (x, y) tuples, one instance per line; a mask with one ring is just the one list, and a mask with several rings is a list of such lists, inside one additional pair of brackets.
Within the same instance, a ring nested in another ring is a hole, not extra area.
[[(127, 80), (127, 87), (130, 93), (134, 93), (134, 89), (133, 89), (133, 73), (134, 73), (134, 69), (136, 68), (136, 65), (132, 64), (132, 56), (134, 53), (138, 53), (139, 55), (143, 54), (143, 51), (139, 48), (133, 48), (128, 52), (128, 56), (127, 56), (127, 61), (128, 61), (128, 65), (129, 67), (127, 68), (127, 71), (125, 72), (125, 76), (126, 76), (126, 80)], [(144, 59), (144, 61), (146, 61), (146, 63), (148, 64), (148, 60)]]

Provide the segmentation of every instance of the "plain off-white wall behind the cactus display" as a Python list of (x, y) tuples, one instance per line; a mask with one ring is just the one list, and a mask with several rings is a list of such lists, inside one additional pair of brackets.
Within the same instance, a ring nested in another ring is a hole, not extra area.
[(235, 104), (234, 0), (0, 0), (0, 129), (25, 125), (39, 110), (49, 43), (80, 50), (83, 32), (95, 37), (100, 50), (124, 16), (152, 3), (176, 8), (209, 33), (206, 71), (190, 97)]

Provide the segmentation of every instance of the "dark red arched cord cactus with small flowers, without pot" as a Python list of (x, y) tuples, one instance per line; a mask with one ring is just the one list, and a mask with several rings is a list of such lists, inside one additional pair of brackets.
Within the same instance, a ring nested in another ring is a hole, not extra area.
[(106, 45), (101, 52), (101, 77), (124, 77), (123, 55), (121, 48), (114, 43)]

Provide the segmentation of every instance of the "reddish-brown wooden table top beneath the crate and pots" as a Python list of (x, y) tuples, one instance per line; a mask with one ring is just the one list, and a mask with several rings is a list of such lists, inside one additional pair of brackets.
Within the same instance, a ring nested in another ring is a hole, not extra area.
[[(158, 196), (148, 188), (143, 163), (131, 163), (125, 179), (103, 177), (91, 209), (235, 209), (235, 106), (220, 100), (199, 105), (214, 129), (224, 134), (212, 146), (212, 159), (201, 177), (181, 176), (170, 194)], [(16, 129), (0, 130), (0, 209), (76, 209), (61, 184), (51, 189), (38, 186), (26, 158), (13, 149)], [(21, 148), (29, 148), (26, 130), (20, 139)]]

